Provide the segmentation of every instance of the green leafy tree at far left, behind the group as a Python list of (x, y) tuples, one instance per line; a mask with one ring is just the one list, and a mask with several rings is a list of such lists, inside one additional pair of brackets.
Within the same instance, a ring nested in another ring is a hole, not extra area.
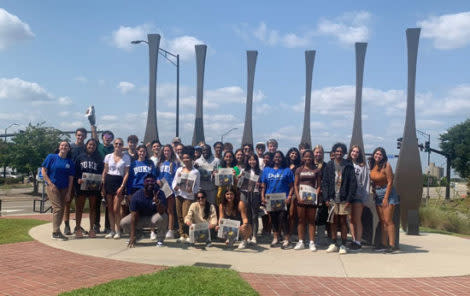
[(59, 142), (67, 140), (68, 135), (60, 130), (43, 126), (44, 123), (28, 125), (24, 132), (20, 132), (12, 138), (12, 166), (20, 173), (33, 177), (34, 193), (38, 192), (36, 174), (38, 168), (49, 153), (53, 153)]

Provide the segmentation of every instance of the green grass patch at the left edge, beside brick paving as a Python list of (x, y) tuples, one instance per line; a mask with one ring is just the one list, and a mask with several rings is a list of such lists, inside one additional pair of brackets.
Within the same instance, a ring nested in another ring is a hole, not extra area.
[(44, 223), (48, 222), (34, 219), (0, 219), (0, 245), (32, 241), (28, 231)]

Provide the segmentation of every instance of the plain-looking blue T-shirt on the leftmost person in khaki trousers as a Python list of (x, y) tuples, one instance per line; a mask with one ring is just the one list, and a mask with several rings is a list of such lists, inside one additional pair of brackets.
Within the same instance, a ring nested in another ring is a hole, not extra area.
[(69, 177), (75, 175), (75, 165), (72, 159), (62, 158), (59, 154), (49, 154), (41, 167), (45, 168), (51, 182), (58, 188), (69, 186)]

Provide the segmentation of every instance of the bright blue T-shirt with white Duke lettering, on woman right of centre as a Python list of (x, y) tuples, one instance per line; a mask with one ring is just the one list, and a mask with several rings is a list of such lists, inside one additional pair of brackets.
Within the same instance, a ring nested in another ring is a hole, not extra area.
[(289, 168), (274, 169), (265, 167), (261, 174), (261, 183), (266, 186), (266, 193), (285, 192), (289, 194), (289, 184), (294, 183), (294, 174)]

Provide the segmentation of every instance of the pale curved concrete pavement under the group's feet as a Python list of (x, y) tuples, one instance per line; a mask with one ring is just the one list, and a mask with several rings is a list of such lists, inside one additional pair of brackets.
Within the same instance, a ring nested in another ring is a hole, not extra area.
[[(84, 221), (84, 224), (87, 221)], [(83, 225), (85, 229), (88, 227)], [(127, 248), (124, 237), (107, 240), (51, 239), (51, 224), (37, 226), (30, 231), (36, 240), (54, 248), (101, 258), (164, 266), (226, 264), (239, 272), (268, 273), (321, 277), (409, 278), (462, 276), (470, 274), (470, 240), (440, 234), (408, 236), (401, 234), (400, 251), (394, 254), (375, 253), (369, 248), (346, 255), (270, 248), (259, 244), (245, 250), (227, 249), (214, 243), (207, 249), (196, 248), (175, 240), (165, 241), (157, 248), (155, 242), (142, 239), (136, 248)]]

